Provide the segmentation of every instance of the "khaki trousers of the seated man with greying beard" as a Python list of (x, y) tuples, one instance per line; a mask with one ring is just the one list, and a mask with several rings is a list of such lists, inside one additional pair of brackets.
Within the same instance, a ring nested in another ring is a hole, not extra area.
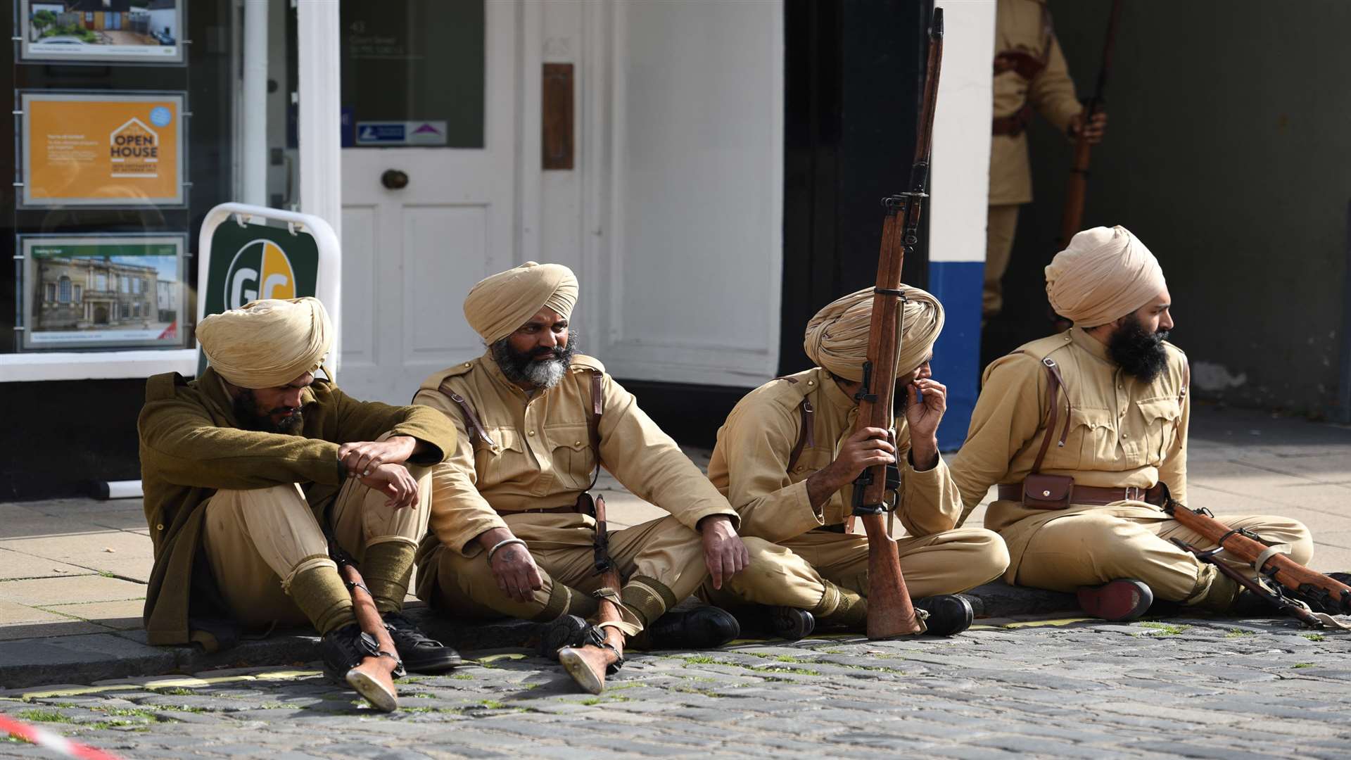
[[(588, 594), (600, 588), (590, 518), (508, 513), (503, 519), (513, 536), (526, 541), (543, 576), (542, 588), (530, 602), (516, 602), (497, 587), (486, 552), (465, 557), (444, 546), (419, 567), (419, 572), (436, 573), (436, 584), (430, 590), (417, 584), (419, 596), (434, 607), (469, 618), (505, 615), (547, 622), (567, 611), (566, 587)], [(703, 540), (673, 517), (611, 531), (609, 554), (626, 579), (624, 603), (631, 603), (636, 587), (642, 603), (635, 606), (647, 614), (648, 622), (693, 594), (708, 576)]]

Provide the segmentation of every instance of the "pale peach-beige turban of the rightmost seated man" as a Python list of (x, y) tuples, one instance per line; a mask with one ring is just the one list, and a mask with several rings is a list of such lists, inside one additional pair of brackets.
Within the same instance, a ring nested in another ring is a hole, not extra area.
[(1125, 316), (1166, 288), (1159, 261), (1121, 226), (1084, 230), (1046, 268), (1051, 306), (1079, 327)]

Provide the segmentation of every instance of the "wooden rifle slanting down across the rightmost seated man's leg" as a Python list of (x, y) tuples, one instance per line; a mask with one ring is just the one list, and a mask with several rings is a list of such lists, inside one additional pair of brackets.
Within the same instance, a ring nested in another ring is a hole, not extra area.
[[(1169, 498), (1163, 511), (1182, 527), (1200, 533), (1210, 544), (1247, 564), (1255, 565), (1258, 557), (1267, 550), (1266, 544), (1254, 540), (1246, 531), (1224, 525), (1205, 510), (1193, 510)], [(1351, 587), (1315, 572), (1285, 554), (1271, 553), (1262, 561), (1262, 567), (1255, 569), (1279, 583), (1298, 599), (1308, 602), (1315, 611), (1331, 615), (1351, 614)]]

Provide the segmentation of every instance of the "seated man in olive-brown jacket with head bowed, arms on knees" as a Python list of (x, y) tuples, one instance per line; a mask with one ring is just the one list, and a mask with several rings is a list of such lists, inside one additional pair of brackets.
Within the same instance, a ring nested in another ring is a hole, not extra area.
[(361, 632), (327, 531), (359, 563), (405, 667), (458, 664), (400, 614), (427, 526), (428, 465), (444, 458), (455, 429), (430, 410), (362, 403), (316, 379), (332, 345), (317, 299), (207, 316), (197, 341), (207, 371), (193, 381), (151, 377), (138, 422), (155, 550), (150, 644), (212, 649), (213, 630), (311, 623), (326, 669), (346, 673), (361, 661)]

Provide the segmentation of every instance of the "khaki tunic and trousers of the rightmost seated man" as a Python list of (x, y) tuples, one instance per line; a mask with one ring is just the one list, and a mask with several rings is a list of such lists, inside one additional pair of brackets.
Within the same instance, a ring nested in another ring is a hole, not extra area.
[[(1125, 373), (1109, 358), (1106, 346), (1079, 327), (1032, 341), (992, 362), (966, 442), (952, 460), (952, 477), (966, 504), (963, 519), (990, 485), (1027, 477), (1044, 435), (1054, 438), (1043, 473), (1109, 488), (1152, 488), (1162, 481), (1186, 503), (1192, 408), (1186, 356), (1165, 345), (1167, 369), (1150, 383)], [(1043, 357), (1056, 361), (1066, 385), (1058, 398), (1054, 431), (1046, 430), (1050, 395)], [(1073, 411), (1061, 448), (1065, 395)], [(1308, 531), (1294, 521), (1244, 517), (1232, 522), (1297, 545), (1292, 556), (1305, 554), (1309, 546)], [(1213, 577), (1213, 572), (1201, 572), (1194, 557), (1159, 540), (1177, 536), (1197, 542), (1198, 537), (1179, 533), (1175, 521), (1146, 502), (1036, 510), (1020, 500), (996, 500), (985, 526), (1008, 544), (1012, 561), (1004, 577), (1009, 583), (1069, 591), (1113, 577), (1139, 577), (1165, 599), (1188, 600), (1204, 595)]]

